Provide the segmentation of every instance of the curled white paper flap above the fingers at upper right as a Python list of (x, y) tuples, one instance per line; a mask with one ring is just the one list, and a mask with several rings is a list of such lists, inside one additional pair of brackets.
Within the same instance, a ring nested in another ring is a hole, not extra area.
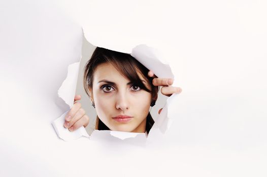
[(132, 49), (131, 56), (153, 71), (157, 77), (174, 78), (170, 65), (158, 50), (146, 45), (139, 45)]

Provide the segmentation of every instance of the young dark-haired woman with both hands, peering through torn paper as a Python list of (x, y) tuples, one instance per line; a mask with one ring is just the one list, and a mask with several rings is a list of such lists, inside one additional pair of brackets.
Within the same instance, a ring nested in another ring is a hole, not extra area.
[[(154, 123), (149, 109), (159, 86), (165, 96), (181, 92), (172, 83), (170, 78), (157, 78), (129, 54), (97, 47), (84, 69), (84, 89), (97, 113), (95, 129), (148, 133)], [(80, 99), (75, 97), (65, 117), (70, 131), (89, 123)]]

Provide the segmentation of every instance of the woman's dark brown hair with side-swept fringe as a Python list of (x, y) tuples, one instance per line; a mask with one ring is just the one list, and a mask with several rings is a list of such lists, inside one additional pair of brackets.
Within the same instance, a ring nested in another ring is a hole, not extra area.
[[(93, 86), (93, 73), (96, 67), (103, 63), (111, 63), (123, 76), (128, 78), (130, 81), (136, 83), (141, 89), (151, 93), (152, 99), (157, 98), (158, 86), (152, 84), (152, 77), (148, 77), (148, 69), (142, 65), (139, 61), (133, 58), (129, 54), (111, 51), (104, 48), (97, 47), (93, 52), (91, 59), (86, 63), (84, 67), (83, 86), (86, 94), (90, 97), (89, 89)], [(139, 74), (141, 74), (150, 84), (151, 90), (149, 90), (142, 82)], [(149, 132), (154, 120), (150, 113), (147, 115), (146, 120), (146, 131)], [(109, 130), (108, 126), (105, 125), (98, 116), (96, 117), (95, 129), (98, 130)]]

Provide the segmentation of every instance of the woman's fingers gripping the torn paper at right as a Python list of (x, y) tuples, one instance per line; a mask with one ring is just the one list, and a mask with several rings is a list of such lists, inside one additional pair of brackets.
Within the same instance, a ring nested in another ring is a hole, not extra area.
[[(154, 86), (162, 86), (161, 87), (161, 94), (170, 97), (173, 94), (180, 94), (182, 92), (182, 89), (180, 87), (171, 86), (174, 82), (172, 78), (158, 78), (154, 75), (152, 71), (148, 72), (149, 77), (154, 77), (152, 80), (152, 83)], [(162, 108), (158, 111), (160, 111)]]

